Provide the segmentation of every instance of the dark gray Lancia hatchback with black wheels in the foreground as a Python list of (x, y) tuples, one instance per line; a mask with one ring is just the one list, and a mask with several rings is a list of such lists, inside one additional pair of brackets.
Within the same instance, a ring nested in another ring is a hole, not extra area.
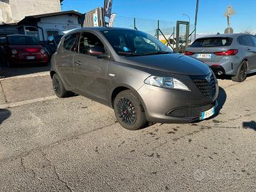
[(50, 76), (58, 97), (75, 92), (112, 107), (126, 129), (207, 119), (217, 105), (218, 82), (206, 64), (131, 29), (68, 33), (53, 55)]

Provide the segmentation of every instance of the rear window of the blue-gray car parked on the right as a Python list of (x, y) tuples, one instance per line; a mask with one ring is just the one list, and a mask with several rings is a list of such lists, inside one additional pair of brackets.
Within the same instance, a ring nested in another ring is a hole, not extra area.
[(198, 38), (191, 48), (230, 46), (233, 38)]

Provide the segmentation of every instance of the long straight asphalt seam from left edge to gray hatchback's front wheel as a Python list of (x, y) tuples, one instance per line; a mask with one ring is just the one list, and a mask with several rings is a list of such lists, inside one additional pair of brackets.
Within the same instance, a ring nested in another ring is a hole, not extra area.
[(17, 154), (17, 155), (14, 155), (14, 156), (9, 156), (9, 157), (0, 159), (0, 163), (4, 163), (5, 161), (9, 161), (9, 160), (13, 160), (13, 159), (16, 160), (16, 159), (19, 159), (19, 158), (21, 158), (21, 157), (24, 158), (24, 157), (28, 156), (29, 154), (33, 154), (33, 153), (35, 153), (35, 152), (37, 152), (37, 151), (46, 150), (46, 149), (51, 149), (51, 148), (53, 148), (54, 146), (58, 146), (58, 145), (60, 145), (60, 144), (64, 144), (65, 142), (70, 142), (70, 141), (73, 141), (73, 140), (80, 139), (80, 137), (82, 137), (82, 136), (85, 136), (85, 135), (87, 135), (87, 134), (91, 134), (91, 133), (93, 133), (93, 132), (97, 132), (97, 131), (99, 131), (99, 130), (105, 129), (105, 128), (110, 127), (110, 126), (112, 126), (112, 125), (114, 125), (114, 124), (117, 124), (117, 122), (114, 122), (114, 123), (112, 123), (112, 124), (107, 124), (107, 125), (105, 125), (105, 126), (98, 127), (98, 128), (96, 128), (96, 129), (92, 129), (92, 130), (90, 130), (89, 132), (83, 132), (83, 133), (80, 133), (80, 134), (75, 134), (75, 135), (73, 135), (73, 136), (71, 136), (71, 137), (66, 137), (66, 138), (64, 138), (64, 139), (60, 139), (60, 140), (58, 140), (58, 141), (56, 141), (56, 142), (50, 143), (50, 144), (45, 145), (45, 146), (38, 146), (38, 147), (33, 148), (33, 149), (31, 149), (31, 150), (24, 151), (24, 152), (22, 152), (21, 154)]

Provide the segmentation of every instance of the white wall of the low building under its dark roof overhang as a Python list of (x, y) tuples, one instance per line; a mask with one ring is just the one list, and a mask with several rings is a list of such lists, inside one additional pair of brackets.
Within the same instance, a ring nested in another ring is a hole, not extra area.
[[(63, 16), (51, 16), (41, 18), (38, 22), (38, 26), (43, 28), (45, 40), (48, 38), (47, 31), (59, 31), (59, 34), (63, 34), (63, 31), (68, 31), (73, 28), (80, 28), (81, 25), (78, 23), (78, 16), (63, 15)], [(41, 30), (39, 29), (41, 41), (43, 40)]]

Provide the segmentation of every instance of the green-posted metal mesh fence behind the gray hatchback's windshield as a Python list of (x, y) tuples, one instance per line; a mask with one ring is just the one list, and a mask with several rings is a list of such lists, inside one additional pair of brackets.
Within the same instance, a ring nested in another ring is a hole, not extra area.
[(179, 25), (177, 33), (177, 21), (117, 16), (114, 21), (114, 26), (134, 28), (139, 31), (149, 33), (151, 36), (158, 38), (159, 41), (166, 44), (166, 46), (171, 47), (176, 52), (182, 52), (186, 46), (193, 42), (193, 33), (190, 33), (193, 31), (193, 26), (189, 23), (188, 28), (186, 25)]

